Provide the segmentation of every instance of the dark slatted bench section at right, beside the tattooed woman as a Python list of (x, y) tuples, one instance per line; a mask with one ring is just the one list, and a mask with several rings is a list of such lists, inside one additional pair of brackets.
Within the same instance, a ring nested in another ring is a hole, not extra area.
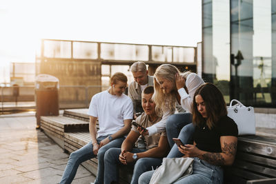
[(276, 183), (276, 137), (239, 136), (237, 155), (224, 183)]

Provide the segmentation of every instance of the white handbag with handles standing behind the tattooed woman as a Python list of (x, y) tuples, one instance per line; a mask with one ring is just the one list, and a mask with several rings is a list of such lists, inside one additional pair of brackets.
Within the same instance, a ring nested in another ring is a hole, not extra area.
[[(233, 101), (237, 104), (232, 105)], [(246, 107), (240, 101), (233, 99), (227, 107), (228, 116), (235, 121), (240, 135), (255, 135), (256, 123), (253, 107)]]

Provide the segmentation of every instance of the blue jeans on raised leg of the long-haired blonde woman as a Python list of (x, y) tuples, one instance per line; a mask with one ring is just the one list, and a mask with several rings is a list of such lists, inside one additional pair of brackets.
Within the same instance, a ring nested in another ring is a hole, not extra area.
[[(167, 132), (168, 143), (170, 144), (170, 148), (172, 148), (172, 146), (175, 144), (175, 142), (172, 141), (172, 138), (177, 138), (182, 127), (184, 127), (185, 125), (188, 125), (192, 121), (193, 121), (193, 116), (188, 112), (172, 114), (168, 117), (166, 121), (166, 132)], [(188, 136), (190, 135), (191, 134), (188, 134)]]

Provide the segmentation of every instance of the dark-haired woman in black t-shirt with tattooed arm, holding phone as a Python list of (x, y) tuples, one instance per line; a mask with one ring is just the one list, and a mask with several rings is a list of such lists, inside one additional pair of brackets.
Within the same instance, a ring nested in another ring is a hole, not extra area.
[[(212, 83), (201, 85), (193, 98), (193, 145), (178, 147), (184, 157), (193, 157), (193, 174), (179, 183), (223, 183), (221, 165), (232, 165), (237, 151), (237, 125), (227, 116), (221, 92)], [(149, 183), (153, 172), (145, 172), (139, 183)]]

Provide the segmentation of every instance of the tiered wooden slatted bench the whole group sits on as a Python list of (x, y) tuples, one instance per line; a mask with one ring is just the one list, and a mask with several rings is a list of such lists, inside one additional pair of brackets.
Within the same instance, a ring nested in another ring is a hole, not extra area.
[[(41, 129), (67, 152), (86, 145), (88, 109), (65, 110), (63, 116), (41, 116)], [(97, 158), (83, 163), (97, 175)], [(120, 167), (120, 183), (130, 183), (132, 169)], [(276, 136), (239, 136), (235, 163), (225, 167), (224, 183), (276, 183)]]

